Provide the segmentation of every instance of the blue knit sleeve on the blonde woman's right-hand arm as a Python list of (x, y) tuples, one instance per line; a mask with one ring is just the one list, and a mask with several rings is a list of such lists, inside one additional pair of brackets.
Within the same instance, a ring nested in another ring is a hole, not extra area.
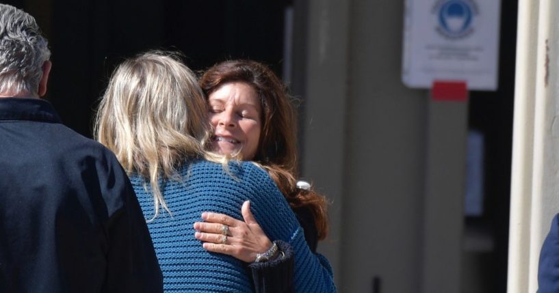
[(295, 291), (336, 292), (328, 260), (309, 249), (293, 210), (268, 173), (253, 167), (246, 176), (246, 184), (252, 192), (252, 213), (268, 238), (283, 240), (293, 249)]

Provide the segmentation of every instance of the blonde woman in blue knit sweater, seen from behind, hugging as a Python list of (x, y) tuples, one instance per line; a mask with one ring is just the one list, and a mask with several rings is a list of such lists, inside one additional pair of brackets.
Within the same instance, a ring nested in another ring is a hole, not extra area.
[[(207, 160), (220, 158), (206, 154), (200, 144), (208, 133), (206, 115), (194, 74), (176, 57), (152, 52), (118, 66), (96, 117), (97, 139), (115, 152), (148, 219), (164, 290), (254, 290), (246, 262), (206, 251), (192, 228), (203, 212), (243, 219), (240, 207), (248, 200), (263, 233), (286, 242), (294, 257), (304, 260), (294, 268), (302, 277), (294, 280), (296, 291), (335, 292), (331, 271), (309, 250), (302, 228), (268, 173), (254, 163)], [(244, 216), (252, 213), (244, 210)], [(218, 237), (228, 245), (240, 236), (222, 226)], [(274, 257), (293, 259), (277, 253)]]

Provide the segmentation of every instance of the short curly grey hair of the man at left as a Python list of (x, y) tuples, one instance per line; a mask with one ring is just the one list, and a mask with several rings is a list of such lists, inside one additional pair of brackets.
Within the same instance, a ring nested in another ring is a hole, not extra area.
[(35, 18), (0, 4), (0, 93), (37, 94), (51, 51)]

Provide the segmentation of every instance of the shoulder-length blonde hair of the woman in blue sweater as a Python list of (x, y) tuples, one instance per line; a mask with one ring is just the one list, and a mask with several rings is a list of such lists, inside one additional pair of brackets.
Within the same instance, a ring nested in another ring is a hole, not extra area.
[(94, 133), (127, 173), (148, 180), (155, 204), (170, 212), (159, 180), (187, 158), (205, 156), (207, 106), (196, 76), (176, 53), (150, 51), (122, 62), (99, 105)]

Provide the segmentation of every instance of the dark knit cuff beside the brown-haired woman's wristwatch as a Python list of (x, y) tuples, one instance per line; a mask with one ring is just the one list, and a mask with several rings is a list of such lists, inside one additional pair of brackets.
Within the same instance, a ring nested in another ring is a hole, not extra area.
[(283, 257), (268, 262), (253, 262), (248, 265), (256, 293), (291, 293), (295, 292), (294, 255), (287, 242), (277, 240), (276, 244)]

